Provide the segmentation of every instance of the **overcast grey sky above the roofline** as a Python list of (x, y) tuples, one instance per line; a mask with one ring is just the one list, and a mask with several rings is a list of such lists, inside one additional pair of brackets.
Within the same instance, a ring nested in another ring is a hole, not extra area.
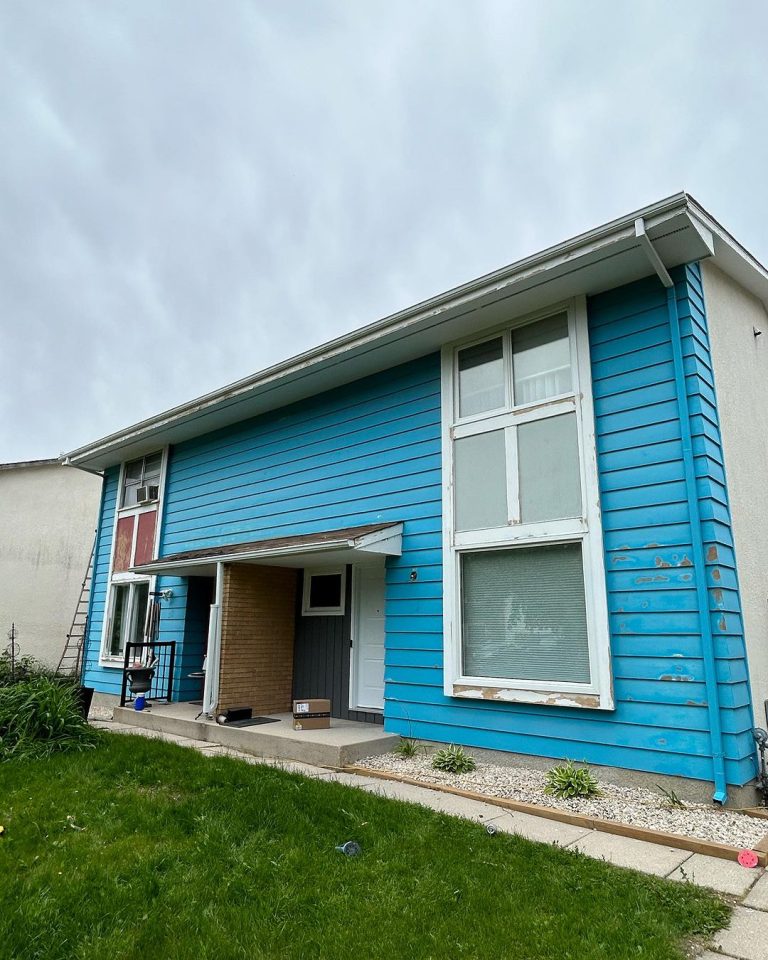
[(0, 461), (687, 189), (768, 260), (768, 4), (0, 0)]

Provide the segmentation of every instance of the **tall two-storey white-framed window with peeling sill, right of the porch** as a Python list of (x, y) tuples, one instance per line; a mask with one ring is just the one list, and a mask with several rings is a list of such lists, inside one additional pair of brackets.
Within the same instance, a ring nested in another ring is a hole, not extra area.
[(613, 708), (584, 298), (442, 354), (445, 693)]

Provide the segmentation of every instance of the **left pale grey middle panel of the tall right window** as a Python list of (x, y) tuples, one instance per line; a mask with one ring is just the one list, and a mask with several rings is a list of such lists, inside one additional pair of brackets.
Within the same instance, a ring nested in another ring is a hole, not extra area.
[(453, 445), (456, 529), (506, 526), (507, 468), (504, 431), (464, 437)]

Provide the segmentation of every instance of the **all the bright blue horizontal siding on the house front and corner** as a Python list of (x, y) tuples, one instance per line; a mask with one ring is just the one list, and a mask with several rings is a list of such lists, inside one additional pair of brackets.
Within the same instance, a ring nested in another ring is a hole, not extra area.
[[(699, 269), (674, 280), (673, 304), (655, 277), (588, 300), (614, 710), (445, 696), (436, 354), (175, 446), (160, 554), (402, 521), (402, 556), (387, 559), (387, 730), (706, 781), (717, 766), (728, 784), (748, 782), (749, 683)], [(98, 646), (116, 497), (115, 469), (87, 670), (111, 693), (119, 671), (98, 667)], [(163, 639), (184, 644), (176, 696), (198, 699), (186, 674), (204, 639), (199, 611), (183, 579), (165, 587)]]

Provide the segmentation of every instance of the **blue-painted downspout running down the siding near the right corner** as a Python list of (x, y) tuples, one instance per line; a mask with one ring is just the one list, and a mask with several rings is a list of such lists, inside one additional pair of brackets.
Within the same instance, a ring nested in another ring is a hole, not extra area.
[(725, 803), (728, 799), (728, 784), (725, 775), (725, 753), (723, 750), (723, 730), (720, 723), (720, 696), (717, 686), (717, 664), (715, 663), (715, 643), (712, 636), (712, 621), (709, 610), (709, 592), (707, 590), (706, 566), (704, 560), (704, 536), (701, 528), (701, 512), (696, 489), (696, 464), (693, 457), (691, 438), (691, 420), (688, 409), (688, 390), (685, 384), (683, 348), (680, 335), (680, 315), (677, 311), (677, 294), (674, 286), (667, 287), (667, 312), (672, 338), (672, 358), (675, 369), (675, 393), (680, 417), (680, 434), (683, 446), (683, 469), (685, 471), (685, 489), (688, 497), (688, 515), (691, 518), (691, 542), (696, 584), (696, 598), (701, 624), (701, 646), (704, 658), (704, 682), (707, 689), (707, 709), (709, 711), (709, 735), (712, 743), (712, 767), (715, 803)]

